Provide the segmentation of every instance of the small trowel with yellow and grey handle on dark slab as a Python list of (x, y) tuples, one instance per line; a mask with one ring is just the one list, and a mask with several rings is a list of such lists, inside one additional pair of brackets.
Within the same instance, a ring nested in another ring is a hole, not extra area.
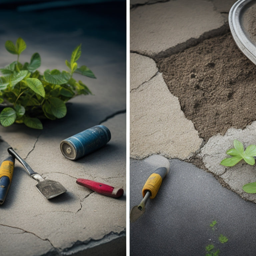
[(143, 213), (145, 213), (145, 205), (149, 198), (155, 198), (162, 181), (169, 169), (166, 167), (160, 167), (152, 173), (147, 179), (143, 189), (142, 196), (143, 199), (139, 205), (133, 206), (130, 212), (130, 221), (135, 222)]

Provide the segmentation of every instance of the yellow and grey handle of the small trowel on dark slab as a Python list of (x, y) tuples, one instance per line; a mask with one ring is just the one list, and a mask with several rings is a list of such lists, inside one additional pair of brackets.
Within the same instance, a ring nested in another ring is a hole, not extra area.
[(154, 198), (162, 184), (162, 181), (167, 174), (168, 170), (165, 167), (158, 168), (154, 173), (152, 173), (147, 179), (143, 189), (143, 197), (146, 195), (147, 191), (151, 193), (150, 198)]

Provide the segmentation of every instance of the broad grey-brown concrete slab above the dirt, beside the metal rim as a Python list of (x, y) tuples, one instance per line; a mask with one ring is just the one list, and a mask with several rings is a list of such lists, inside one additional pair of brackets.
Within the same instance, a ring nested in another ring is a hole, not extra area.
[(130, 49), (154, 56), (220, 28), (225, 20), (212, 2), (204, 0), (195, 0), (193, 4), (179, 0), (138, 6), (130, 11)]

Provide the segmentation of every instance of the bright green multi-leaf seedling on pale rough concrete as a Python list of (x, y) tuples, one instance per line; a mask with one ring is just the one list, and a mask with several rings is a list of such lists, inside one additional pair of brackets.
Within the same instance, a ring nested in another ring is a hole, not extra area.
[(221, 165), (234, 166), (242, 159), (250, 165), (255, 164), (253, 156), (256, 156), (256, 145), (250, 145), (244, 151), (243, 144), (238, 140), (234, 140), (234, 147), (235, 148), (231, 148), (226, 152), (226, 154), (231, 155), (232, 157), (223, 159), (220, 162)]

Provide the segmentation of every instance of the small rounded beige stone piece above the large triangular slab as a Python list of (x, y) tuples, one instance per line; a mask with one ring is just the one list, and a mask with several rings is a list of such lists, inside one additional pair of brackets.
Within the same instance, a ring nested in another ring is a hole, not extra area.
[(156, 63), (149, 57), (130, 53), (130, 90), (138, 88), (158, 71)]

